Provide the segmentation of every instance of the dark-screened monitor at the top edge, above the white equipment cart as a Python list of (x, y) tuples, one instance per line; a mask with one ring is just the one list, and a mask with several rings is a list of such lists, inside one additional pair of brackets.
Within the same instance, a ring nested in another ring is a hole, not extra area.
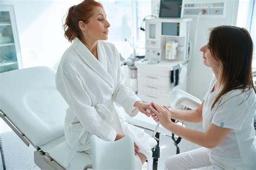
[(182, 0), (161, 0), (159, 18), (183, 17)]

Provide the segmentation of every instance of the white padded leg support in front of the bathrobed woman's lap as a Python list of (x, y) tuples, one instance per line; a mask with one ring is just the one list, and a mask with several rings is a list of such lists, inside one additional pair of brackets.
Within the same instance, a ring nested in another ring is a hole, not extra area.
[(129, 135), (108, 142), (91, 136), (93, 169), (135, 169), (134, 143)]

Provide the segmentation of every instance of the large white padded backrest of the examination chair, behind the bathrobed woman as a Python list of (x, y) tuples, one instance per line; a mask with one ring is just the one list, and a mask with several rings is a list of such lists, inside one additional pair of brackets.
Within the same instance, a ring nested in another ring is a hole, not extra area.
[(33, 67), (0, 74), (0, 109), (36, 145), (64, 135), (68, 105), (56, 90), (55, 72)]

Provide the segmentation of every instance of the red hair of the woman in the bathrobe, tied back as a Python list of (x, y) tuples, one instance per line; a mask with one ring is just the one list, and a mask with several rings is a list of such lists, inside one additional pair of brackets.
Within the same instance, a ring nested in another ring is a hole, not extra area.
[(82, 31), (78, 26), (78, 22), (83, 21), (86, 24), (89, 23), (89, 19), (93, 15), (93, 9), (96, 6), (103, 8), (102, 4), (94, 0), (84, 0), (82, 3), (69, 8), (65, 24), (63, 25), (64, 35), (69, 42), (72, 42), (76, 37), (82, 40)]

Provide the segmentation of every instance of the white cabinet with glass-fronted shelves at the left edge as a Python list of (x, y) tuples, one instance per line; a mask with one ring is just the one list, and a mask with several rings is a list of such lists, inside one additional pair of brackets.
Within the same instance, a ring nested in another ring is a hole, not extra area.
[(0, 73), (22, 68), (14, 7), (0, 5)]

